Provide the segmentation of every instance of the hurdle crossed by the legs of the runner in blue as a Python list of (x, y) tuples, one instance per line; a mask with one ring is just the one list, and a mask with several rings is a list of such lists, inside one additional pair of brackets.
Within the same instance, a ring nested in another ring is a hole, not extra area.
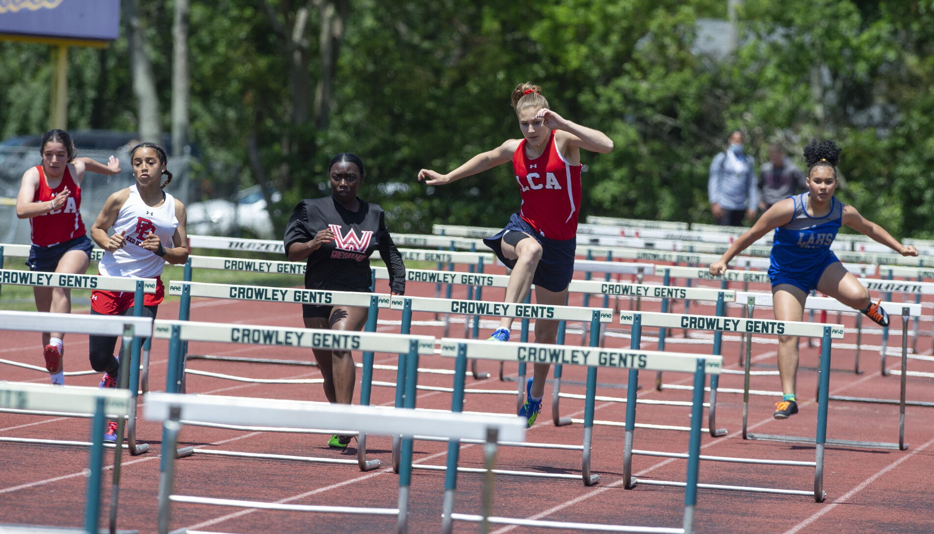
[[(749, 314), (752, 315), (753, 308), (756, 304), (760, 305), (771, 305), (771, 294), (741, 294), (740, 295), (747, 303), (746, 307), (749, 308)], [(813, 304), (812, 304), (813, 303)], [(837, 301), (836, 299), (830, 299), (828, 297), (808, 297), (805, 302), (805, 307), (809, 304), (819, 307), (820, 309), (828, 308), (832, 310), (843, 309), (844, 311), (855, 311), (853, 308), (846, 306), (842, 302)], [(908, 319), (909, 316), (919, 316), (921, 314), (921, 305), (920, 304), (910, 304), (907, 302), (883, 302), (883, 308), (886, 312), (889, 312), (890, 316), (895, 316), (897, 308), (901, 308), (901, 325), (902, 325), (902, 335), (901, 335), (901, 369), (907, 371), (908, 369)], [(858, 313), (858, 312), (856, 312)], [(887, 331), (887, 329), (886, 329)], [(793, 335), (793, 334), (786, 334)], [(748, 349), (747, 349), (748, 350)], [(883, 345), (883, 352), (885, 346)], [(820, 367), (821, 372), (824, 371), (825, 362), (824, 362), (824, 347), (821, 347), (821, 361)], [(829, 358), (829, 355), (828, 355)], [(884, 360), (883, 360), (884, 361)], [(883, 363), (884, 365), (884, 363)], [(829, 364), (827, 364), (829, 370)], [(749, 379), (749, 353), (746, 354), (746, 383), (748, 384)], [(825, 384), (822, 380), (818, 384), (817, 396), (818, 399), (828, 397), (828, 393), (824, 391)], [(830, 401), (849, 401), (849, 402), (866, 402), (871, 404), (899, 404), (899, 443), (886, 443), (886, 442), (863, 442), (863, 441), (854, 441), (854, 440), (828, 440), (828, 443), (841, 444), (852, 447), (861, 447), (861, 448), (870, 448), (870, 449), (895, 449), (895, 450), (907, 450), (908, 443), (905, 443), (905, 406), (906, 405), (916, 405), (916, 406), (934, 406), (934, 402), (919, 402), (919, 401), (906, 401), (905, 392), (906, 392), (906, 378), (907, 373), (901, 374), (901, 384), (900, 384), (900, 398), (899, 401), (889, 400), (889, 399), (869, 399), (862, 397), (844, 397), (840, 395), (829, 396)], [(746, 435), (746, 425), (745, 419), (743, 419), (743, 436)], [(749, 434), (750, 440), (770, 440), (770, 441), (779, 441), (779, 442), (807, 442), (809, 438), (800, 438), (795, 436), (773, 436), (766, 434)]]

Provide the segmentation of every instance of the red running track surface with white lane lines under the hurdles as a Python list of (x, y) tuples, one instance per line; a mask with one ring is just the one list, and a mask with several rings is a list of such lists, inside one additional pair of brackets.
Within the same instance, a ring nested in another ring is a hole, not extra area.
[[(650, 277), (651, 278), (651, 277)], [(650, 281), (658, 281), (651, 279)], [(754, 289), (765, 289), (754, 287)], [(385, 288), (383, 288), (385, 290)], [(412, 283), (410, 294), (434, 296), (434, 286)], [(502, 289), (484, 291), (485, 300), (502, 299)], [(455, 298), (463, 298), (464, 290), (455, 288)], [(599, 305), (601, 298), (591, 298), (591, 304)], [(573, 296), (572, 304), (580, 305), (581, 297)], [(611, 302), (614, 305), (615, 302)], [(0, 302), (2, 304), (2, 302)], [(618, 305), (629, 309), (630, 301), (622, 299)], [(658, 310), (658, 301), (644, 300), (644, 310)], [(675, 311), (683, 312), (683, 305), (676, 304)], [(712, 305), (692, 303), (691, 313), (713, 315)], [(729, 315), (738, 316), (739, 309), (731, 307)], [(161, 306), (162, 318), (177, 317), (177, 304)], [(193, 320), (236, 322), (301, 327), (301, 310), (294, 304), (233, 302), (195, 300), (192, 308)], [(768, 310), (758, 310), (756, 316), (771, 316)], [(398, 313), (381, 312), (380, 319), (398, 321)], [(455, 316), (455, 320), (458, 317)], [(426, 333), (441, 337), (443, 329), (430, 314), (416, 314), (418, 322), (413, 333)], [(834, 322), (835, 315), (828, 318)], [(900, 329), (900, 320), (895, 319), (894, 330)], [(492, 324), (492, 323), (489, 323)], [(843, 324), (854, 328), (853, 316), (844, 316)], [(451, 325), (450, 335), (462, 335), (463, 323)], [(568, 344), (581, 344), (577, 325), (569, 325)], [(922, 323), (923, 331), (929, 332), (929, 319)], [(380, 331), (398, 331), (398, 322), (380, 324)], [(481, 333), (488, 332), (483, 328)], [(712, 336), (708, 332), (694, 331), (688, 343), (682, 343), (681, 330), (668, 341), (667, 349), (675, 352), (706, 353), (711, 350)], [(643, 348), (655, 348), (655, 331), (644, 330)], [(518, 336), (516, 336), (517, 338)], [(848, 333), (843, 344), (855, 343), (855, 334)], [(0, 358), (40, 364), (41, 347), (37, 334), (0, 331)], [(761, 342), (761, 343), (759, 343)], [(628, 347), (628, 330), (618, 324), (611, 325), (606, 337), (607, 346)], [(855, 351), (846, 347), (833, 351), (833, 368), (830, 377), (831, 394), (898, 399), (899, 377), (881, 376), (878, 372), (878, 349), (872, 351), (867, 345), (881, 344), (879, 330), (869, 330), (863, 335), (864, 350), (862, 367), (865, 374), (847, 372), (853, 368)], [(894, 332), (890, 346), (899, 347), (899, 332)], [(66, 340), (67, 370), (89, 368), (87, 339), (71, 335)], [(774, 338), (763, 336), (753, 346), (754, 361), (758, 369), (773, 369), (775, 363)], [(931, 354), (929, 336), (922, 337), (918, 344), (919, 353)], [(723, 354), (727, 369), (739, 369), (739, 340), (725, 335)], [(310, 351), (290, 348), (244, 346), (232, 344), (192, 343), (192, 354), (219, 354), (250, 356), (259, 358), (295, 358), (311, 360)], [(153, 344), (150, 362), (150, 385), (162, 389), (165, 383), (167, 343), (159, 340)], [(360, 355), (354, 357), (360, 361)], [(817, 348), (801, 344), (801, 365), (816, 367)], [(377, 354), (376, 362), (394, 364), (395, 355)], [(889, 367), (898, 369), (899, 358), (889, 357)], [(914, 371), (934, 371), (930, 361), (910, 360)], [(421, 359), (421, 367), (453, 368), (448, 358), (429, 357)], [(493, 379), (473, 381), (468, 379), (468, 388), (515, 389), (516, 383), (500, 382), (496, 378), (498, 364), (480, 362), (481, 371), (491, 372)], [(514, 378), (515, 364), (506, 365), (507, 378)], [(314, 368), (294, 368), (262, 364), (193, 361), (192, 369), (225, 372), (253, 377), (315, 378), (319, 373)], [(44, 383), (44, 373), (30, 372), (10, 366), (0, 366), (3, 379)], [(586, 372), (583, 369), (566, 367), (562, 391), (583, 394)], [(359, 375), (358, 375), (359, 378)], [(376, 371), (375, 380), (393, 382), (394, 372)], [(514, 378), (515, 379), (515, 378)], [(814, 388), (817, 373), (799, 373), (799, 399), (801, 413), (786, 421), (771, 417), (774, 397), (752, 397), (750, 402), (750, 431), (814, 435), (816, 426), (816, 404)], [(98, 382), (96, 375), (69, 378), (67, 383), (77, 386), (93, 386)], [(422, 373), (419, 384), (450, 386), (449, 375)], [(601, 384), (622, 385), (626, 382), (624, 371), (601, 370)], [(689, 400), (689, 392), (675, 389), (654, 390), (654, 372), (640, 376), (643, 389), (642, 399)], [(666, 373), (665, 383), (689, 384), (691, 377), (680, 373)], [(934, 399), (934, 379), (910, 377), (909, 400), (931, 401)], [(742, 388), (741, 375), (723, 375), (720, 387)], [(754, 376), (753, 389), (778, 390), (775, 376)], [(282, 386), (242, 384), (230, 381), (190, 375), (190, 392), (265, 397), (277, 399), (299, 399), (324, 401), (321, 388), (311, 386)], [(550, 398), (550, 386), (546, 387), (546, 398)], [(603, 387), (598, 395), (625, 396), (625, 389)], [(389, 387), (374, 387), (373, 402), (391, 405), (394, 391)], [(511, 412), (515, 398), (501, 395), (468, 395), (465, 410), (488, 412)], [(417, 398), (419, 407), (450, 408), (450, 397), (446, 393), (421, 391)], [(564, 399), (561, 401), (562, 415), (583, 417), (583, 401)], [(742, 395), (721, 393), (718, 398), (718, 426), (729, 429), (722, 438), (702, 438), (702, 454), (736, 457), (768, 457), (795, 460), (814, 460), (814, 446), (774, 442), (743, 441), (740, 437), (742, 421)], [(598, 401), (596, 419), (622, 421), (625, 404)], [(528, 440), (548, 443), (581, 443), (582, 425), (556, 428), (551, 424), (549, 403), (539, 422), (529, 431)], [(687, 425), (688, 408), (640, 405), (637, 421), (641, 423)], [(930, 503), (930, 487), (934, 487), (934, 410), (909, 407), (906, 415), (907, 451), (869, 450), (829, 445), (825, 460), (824, 487), (828, 499), (815, 503), (807, 497), (788, 497), (756, 493), (737, 493), (723, 490), (700, 490), (695, 531), (699, 533), (732, 532), (807, 532), (839, 534), (842, 532), (916, 533), (934, 531), (934, 507)], [(860, 441), (898, 441), (899, 412), (897, 406), (879, 404), (856, 404), (831, 402), (828, 417), (828, 437)], [(0, 414), (0, 432), (6, 436), (35, 437), (48, 439), (86, 439), (89, 425), (86, 420), (61, 417), (39, 417)], [(158, 425), (141, 421), (138, 439), (150, 443), (149, 453), (140, 457), (123, 457), (122, 484), (120, 493), (119, 527), (138, 529), (141, 533), (156, 531), (156, 495), (159, 480), (159, 454), (161, 429)], [(353, 445), (347, 451), (327, 448), (327, 436), (296, 435), (272, 432), (241, 432), (221, 429), (185, 427), (181, 433), (182, 444), (236, 451), (253, 451), (315, 457), (356, 457)], [(686, 432), (657, 429), (636, 429), (635, 446), (642, 449), (685, 452)], [(390, 465), (390, 443), (388, 438), (371, 437), (368, 440), (369, 457), (383, 460)], [(684, 511), (684, 492), (675, 487), (639, 485), (627, 490), (622, 487), (623, 430), (615, 427), (597, 426), (594, 429), (592, 469), (601, 474), (598, 485), (586, 487), (580, 482), (548, 479), (530, 479), (498, 476), (494, 513), (502, 516), (558, 521), (594, 522), (601, 524), (624, 524), (647, 527), (681, 527)], [(109, 453), (108, 453), (109, 455)], [(108, 456), (109, 457), (109, 456)], [(415, 461), (421, 464), (444, 465), (446, 444), (417, 442)], [(480, 447), (463, 445), (460, 466), (482, 467)], [(56, 526), (79, 526), (82, 523), (85, 479), (82, 471), (87, 467), (85, 449), (54, 445), (21, 445), (0, 443), (0, 523), (37, 523)], [(542, 472), (580, 471), (580, 454), (542, 449), (517, 449), (501, 447), (497, 467), (507, 470), (530, 470)], [(683, 480), (685, 462), (653, 457), (634, 457), (633, 473), (641, 479)], [(481, 478), (473, 474), (461, 474), (458, 485), (456, 512), (478, 513), (480, 509)], [(813, 488), (814, 471), (808, 468), (779, 468), (769, 466), (745, 466), (719, 462), (701, 462), (701, 483), (726, 485), (758, 485), (810, 490)], [(412, 483), (412, 506), (410, 530), (412, 532), (436, 532), (441, 525), (441, 505), (444, 475), (436, 471), (415, 471)], [(177, 485), (175, 493), (231, 499), (256, 499), (303, 504), (330, 504), (353, 506), (395, 507), (398, 479), (389, 469), (361, 472), (355, 466), (321, 465), (276, 460), (210, 457), (195, 455), (177, 462)], [(109, 491), (105, 491), (105, 506), (101, 526), (106, 526)], [(388, 532), (394, 531), (395, 519), (391, 517), (347, 516), (336, 514), (284, 513), (256, 510), (221, 508), (197, 504), (173, 505), (171, 528), (190, 527), (199, 530), (240, 533), (278, 532)], [(473, 532), (476, 525), (458, 523), (456, 532)], [(533, 527), (501, 527), (494, 532), (562, 532), (564, 530)]]

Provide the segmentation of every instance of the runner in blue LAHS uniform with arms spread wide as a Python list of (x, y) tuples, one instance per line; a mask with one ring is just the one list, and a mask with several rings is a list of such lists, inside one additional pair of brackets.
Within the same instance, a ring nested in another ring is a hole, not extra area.
[[(772, 310), (775, 318), (800, 321), (808, 293), (817, 289), (861, 311), (882, 326), (888, 315), (879, 302), (870, 301), (869, 290), (843, 267), (830, 250), (842, 225), (864, 233), (891, 247), (902, 256), (917, 256), (913, 246), (902, 246), (878, 224), (859, 215), (851, 205), (833, 196), (837, 190), (837, 163), (840, 148), (833, 141), (812, 141), (804, 148), (808, 164), (808, 190), (790, 196), (769, 208), (747, 232), (737, 239), (720, 260), (710, 265), (711, 274), (722, 274), (727, 263), (760, 237), (775, 230), (771, 246)], [(782, 381), (782, 401), (775, 403), (775, 418), (786, 419), (798, 413), (795, 378), (798, 373), (798, 338), (782, 336), (778, 342), (778, 372)]]

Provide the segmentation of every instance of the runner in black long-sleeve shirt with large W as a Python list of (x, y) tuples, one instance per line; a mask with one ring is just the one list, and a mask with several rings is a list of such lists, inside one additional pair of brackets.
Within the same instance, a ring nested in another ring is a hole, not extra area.
[[(331, 196), (306, 199), (292, 210), (286, 227), (286, 255), (291, 261), (308, 260), (304, 287), (335, 291), (370, 291), (370, 254), (389, 268), (393, 294), (405, 292), (402, 255), (386, 229), (383, 208), (357, 198), (363, 181), (363, 162), (354, 154), (338, 154), (328, 166)], [(347, 306), (302, 305), (305, 328), (356, 330), (366, 323), (367, 309)], [(324, 377), (328, 401), (349, 404), (357, 370), (348, 350), (315, 350)], [(346, 448), (350, 436), (334, 435), (328, 443)]]

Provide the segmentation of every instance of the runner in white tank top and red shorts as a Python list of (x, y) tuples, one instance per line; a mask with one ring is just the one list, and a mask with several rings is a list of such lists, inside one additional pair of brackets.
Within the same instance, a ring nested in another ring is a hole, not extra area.
[[(130, 151), (130, 164), (136, 184), (110, 195), (104, 209), (91, 227), (91, 237), (104, 249), (98, 270), (109, 276), (156, 278), (156, 293), (143, 297), (144, 316), (155, 318), (165, 288), (159, 277), (163, 265), (188, 260), (188, 239), (185, 235), (185, 206), (163, 191), (172, 181), (165, 169), (168, 158), (163, 148), (142, 143)], [(160, 185), (162, 176), (168, 179)], [(113, 228), (109, 236), (107, 232)], [(93, 291), (92, 315), (118, 316), (132, 313), (133, 291)], [(120, 360), (114, 358), (117, 338), (89, 336), (91, 367), (106, 372), (102, 387), (116, 387)], [(117, 423), (111, 421), (104, 434), (108, 441), (117, 440)]]

